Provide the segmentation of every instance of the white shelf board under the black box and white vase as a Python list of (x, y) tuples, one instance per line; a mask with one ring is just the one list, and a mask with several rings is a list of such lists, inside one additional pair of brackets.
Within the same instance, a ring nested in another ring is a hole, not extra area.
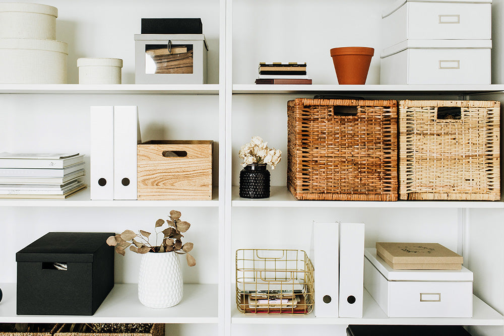
[(92, 323), (217, 323), (217, 285), (184, 284), (182, 301), (173, 307), (153, 309), (138, 300), (137, 284), (115, 284), (92, 316), (17, 315), (16, 284), (1, 284), (0, 322)]

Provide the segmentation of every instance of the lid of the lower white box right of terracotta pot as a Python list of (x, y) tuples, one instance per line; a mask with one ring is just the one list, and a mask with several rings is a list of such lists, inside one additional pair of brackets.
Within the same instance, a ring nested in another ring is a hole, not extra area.
[(404, 40), (385, 48), (380, 58), (406, 49), (491, 49), (492, 40)]

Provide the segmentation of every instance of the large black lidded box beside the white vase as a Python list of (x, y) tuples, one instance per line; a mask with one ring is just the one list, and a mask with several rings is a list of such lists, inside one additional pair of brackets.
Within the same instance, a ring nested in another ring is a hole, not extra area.
[(114, 287), (113, 235), (49, 232), (17, 252), (17, 314), (93, 315)]

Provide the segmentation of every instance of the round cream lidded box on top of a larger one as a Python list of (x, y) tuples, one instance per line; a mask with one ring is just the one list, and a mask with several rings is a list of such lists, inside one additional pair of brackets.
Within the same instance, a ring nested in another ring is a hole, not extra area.
[(56, 39), (55, 7), (0, 3), (0, 38)]

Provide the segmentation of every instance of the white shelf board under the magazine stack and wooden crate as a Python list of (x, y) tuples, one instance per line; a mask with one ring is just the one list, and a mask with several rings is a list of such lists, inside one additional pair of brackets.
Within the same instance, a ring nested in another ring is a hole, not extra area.
[(88, 186), (66, 199), (0, 198), (0, 207), (218, 207), (218, 197), (218, 187), (214, 187), (211, 200), (91, 200)]

